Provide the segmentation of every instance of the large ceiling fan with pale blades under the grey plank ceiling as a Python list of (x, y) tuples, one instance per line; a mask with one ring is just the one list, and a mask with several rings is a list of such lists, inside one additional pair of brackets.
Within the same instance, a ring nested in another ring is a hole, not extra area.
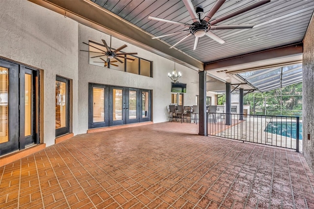
[(225, 1), (226, 0), (217, 0), (216, 3), (213, 5), (213, 7), (206, 14), (206, 16), (203, 19), (201, 19), (202, 15), (204, 14), (203, 8), (197, 7), (195, 10), (191, 0), (183, 0), (183, 3), (185, 5), (187, 11), (192, 18), (192, 21), (193, 21), (192, 24), (180, 23), (180, 22), (176, 22), (176, 21), (171, 21), (171, 20), (166, 20), (166, 19), (162, 19), (162, 18), (149, 16), (148, 19), (150, 19), (150, 20), (156, 20), (156, 21), (172, 23), (172, 24), (177, 24), (177, 25), (181, 25), (184, 27), (188, 27), (188, 29), (185, 29), (183, 31), (153, 37), (152, 39), (162, 38), (162, 37), (171, 36), (171, 35), (175, 35), (175, 34), (179, 34), (179, 33), (188, 31), (189, 34), (187, 34), (183, 39), (181, 39), (176, 44), (174, 44), (172, 47), (170, 47), (170, 49), (174, 48), (176, 45), (183, 42), (183, 40), (185, 40), (187, 37), (189, 37), (191, 35), (195, 36), (193, 50), (197, 49), (199, 39), (205, 35), (208, 36), (209, 38), (213, 39), (214, 41), (216, 41), (220, 44), (223, 44), (223, 43), (225, 43), (225, 41), (222, 40), (221, 38), (219, 38), (214, 33), (212, 33), (210, 30), (252, 28), (254, 25), (246, 24), (246, 25), (219, 25), (219, 26), (215, 26), (217, 23), (220, 23), (221, 21), (227, 20), (227, 19), (234, 17), (238, 14), (241, 14), (243, 12), (249, 11), (251, 9), (254, 9), (258, 6), (261, 6), (265, 3), (270, 2), (270, 0), (259, 0), (255, 3), (248, 5), (248, 6), (245, 6), (243, 8), (238, 9), (238, 10), (235, 10), (229, 14), (226, 14), (226, 15), (223, 15), (219, 18), (211, 20), (212, 16), (218, 11), (218, 9), (222, 6), (222, 4)]

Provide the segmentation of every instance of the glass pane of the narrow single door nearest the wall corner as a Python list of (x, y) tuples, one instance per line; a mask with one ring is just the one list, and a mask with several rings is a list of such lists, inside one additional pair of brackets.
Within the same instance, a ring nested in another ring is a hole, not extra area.
[(66, 127), (66, 83), (55, 81), (55, 128)]

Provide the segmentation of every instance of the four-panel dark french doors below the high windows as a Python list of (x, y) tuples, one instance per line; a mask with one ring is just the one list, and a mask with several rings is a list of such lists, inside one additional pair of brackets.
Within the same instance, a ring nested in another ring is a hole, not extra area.
[(151, 90), (89, 84), (89, 128), (151, 120)]

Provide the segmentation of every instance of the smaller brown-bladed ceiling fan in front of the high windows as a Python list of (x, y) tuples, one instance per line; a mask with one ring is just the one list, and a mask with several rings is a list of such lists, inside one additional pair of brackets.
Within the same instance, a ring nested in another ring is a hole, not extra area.
[[(110, 35), (110, 47), (108, 47), (108, 45), (107, 45), (107, 43), (105, 42), (104, 39), (102, 39), (102, 41), (103, 41), (103, 44), (104, 44), (104, 45), (102, 45), (102, 44), (99, 44), (99, 45), (104, 46), (105, 49), (106, 49), (106, 51), (105, 51), (105, 50), (102, 50), (102, 49), (100, 49), (100, 48), (98, 48), (98, 47), (95, 47), (95, 46), (92, 46), (92, 45), (90, 45), (90, 44), (87, 44), (87, 43), (83, 42), (83, 44), (86, 44), (86, 45), (88, 45), (88, 46), (90, 46), (90, 47), (92, 47), (92, 48), (94, 48), (94, 49), (97, 49), (97, 50), (100, 50), (100, 51), (101, 51), (101, 52), (95, 52), (95, 53), (101, 53), (101, 55), (92, 56), (92, 57), (90, 57), (90, 58), (101, 57), (101, 56), (107, 56), (106, 62), (109, 62), (109, 59), (114, 58), (114, 59), (116, 59), (117, 61), (119, 61), (119, 62), (121, 62), (121, 63), (123, 63), (123, 61), (122, 61), (121, 59), (119, 59), (119, 58), (130, 59), (130, 60), (132, 60), (132, 61), (135, 60), (135, 59), (133, 59), (133, 58), (130, 58), (130, 57), (127, 57), (127, 56), (124, 56), (124, 55), (127, 55), (127, 54), (137, 54), (137, 52), (120, 52), (122, 49), (126, 48), (127, 45), (123, 45), (123, 46), (119, 47), (119, 48), (116, 49), (116, 50), (113, 50), (113, 49), (111, 48), (111, 35)], [(91, 51), (85, 51), (85, 50), (80, 50), (80, 51), (82, 51), (82, 52), (91, 52)], [(119, 57), (119, 58), (118, 58), (118, 57)], [(112, 61), (111, 61), (111, 62), (112, 62)]]

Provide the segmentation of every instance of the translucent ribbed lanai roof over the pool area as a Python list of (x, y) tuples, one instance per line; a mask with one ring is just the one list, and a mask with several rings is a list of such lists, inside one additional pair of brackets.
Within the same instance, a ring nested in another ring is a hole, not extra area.
[(302, 63), (244, 72), (237, 76), (255, 86), (257, 90), (266, 92), (302, 82)]

